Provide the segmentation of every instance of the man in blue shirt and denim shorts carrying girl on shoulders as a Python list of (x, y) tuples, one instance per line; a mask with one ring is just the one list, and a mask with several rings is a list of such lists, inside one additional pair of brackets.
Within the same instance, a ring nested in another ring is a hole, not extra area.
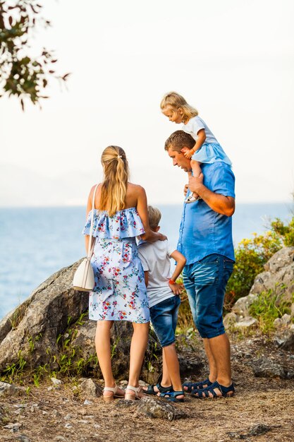
[(235, 392), (230, 342), (222, 315), (234, 263), (231, 216), (235, 211), (235, 177), (223, 162), (202, 164), (200, 177), (192, 177), (190, 160), (184, 153), (194, 145), (190, 134), (176, 131), (166, 140), (165, 150), (174, 166), (189, 172), (189, 189), (201, 197), (184, 204), (177, 249), (187, 259), (183, 282), (193, 320), (203, 338), (209, 377), (183, 386), (194, 398), (212, 398)]

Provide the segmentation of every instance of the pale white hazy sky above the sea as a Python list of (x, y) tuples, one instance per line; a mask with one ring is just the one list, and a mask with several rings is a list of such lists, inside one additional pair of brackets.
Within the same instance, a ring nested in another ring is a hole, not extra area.
[(46, 2), (52, 26), (32, 52), (55, 49), (71, 76), (51, 81), (42, 110), (1, 98), (0, 205), (85, 204), (107, 145), (149, 203), (180, 203), (187, 177), (164, 151), (180, 125), (159, 108), (170, 90), (231, 158), (237, 202), (291, 201), (293, 13), (292, 0)]

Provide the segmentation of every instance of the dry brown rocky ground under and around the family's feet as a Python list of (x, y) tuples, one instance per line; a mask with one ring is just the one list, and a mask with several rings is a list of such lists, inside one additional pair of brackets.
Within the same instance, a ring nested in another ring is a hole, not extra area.
[[(196, 400), (187, 395), (184, 404), (176, 405), (149, 398), (105, 403), (99, 383), (95, 387), (92, 381), (77, 380), (43, 382), (20, 395), (3, 388), (0, 440), (293, 441), (293, 354), (261, 336), (235, 335), (232, 341), (233, 398)], [(195, 371), (195, 380), (204, 378), (207, 366), (200, 342), (197, 338), (180, 342), (185, 374)]]

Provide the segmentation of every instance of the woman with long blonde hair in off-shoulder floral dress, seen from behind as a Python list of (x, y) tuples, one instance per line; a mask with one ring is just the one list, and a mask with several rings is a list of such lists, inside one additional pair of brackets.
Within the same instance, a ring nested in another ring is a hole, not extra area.
[[(135, 400), (142, 397), (139, 374), (148, 340), (149, 307), (142, 264), (135, 237), (147, 241), (166, 237), (149, 227), (147, 198), (141, 186), (128, 182), (125, 152), (109, 146), (102, 153), (104, 181), (93, 186), (87, 202), (85, 234), (89, 242), (92, 199), (94, 253), (91, 263), (95, 285), (90, 293), (89, 317), (97, 321), (96, 352), (105, 382), (104, 399), (114, 396)], [(96, 193), (94, 193), (96, 191)], [(130, 345), (130, 375), (125, 391), (116, 386), (111, 370), (110, 329), (114, 321), (133, 323)]]

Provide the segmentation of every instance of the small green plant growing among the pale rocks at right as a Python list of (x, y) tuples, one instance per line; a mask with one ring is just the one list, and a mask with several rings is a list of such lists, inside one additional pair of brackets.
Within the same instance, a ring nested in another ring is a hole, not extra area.
[(267, 333), (274, 328), (274, 320), (281, 318), (285, 313), (290, 313), (290, 302), (281, 300), (281, 294), (269, 290), (262, 292), (251, 304), (250, 315), (257, 318), (259, 328)]

